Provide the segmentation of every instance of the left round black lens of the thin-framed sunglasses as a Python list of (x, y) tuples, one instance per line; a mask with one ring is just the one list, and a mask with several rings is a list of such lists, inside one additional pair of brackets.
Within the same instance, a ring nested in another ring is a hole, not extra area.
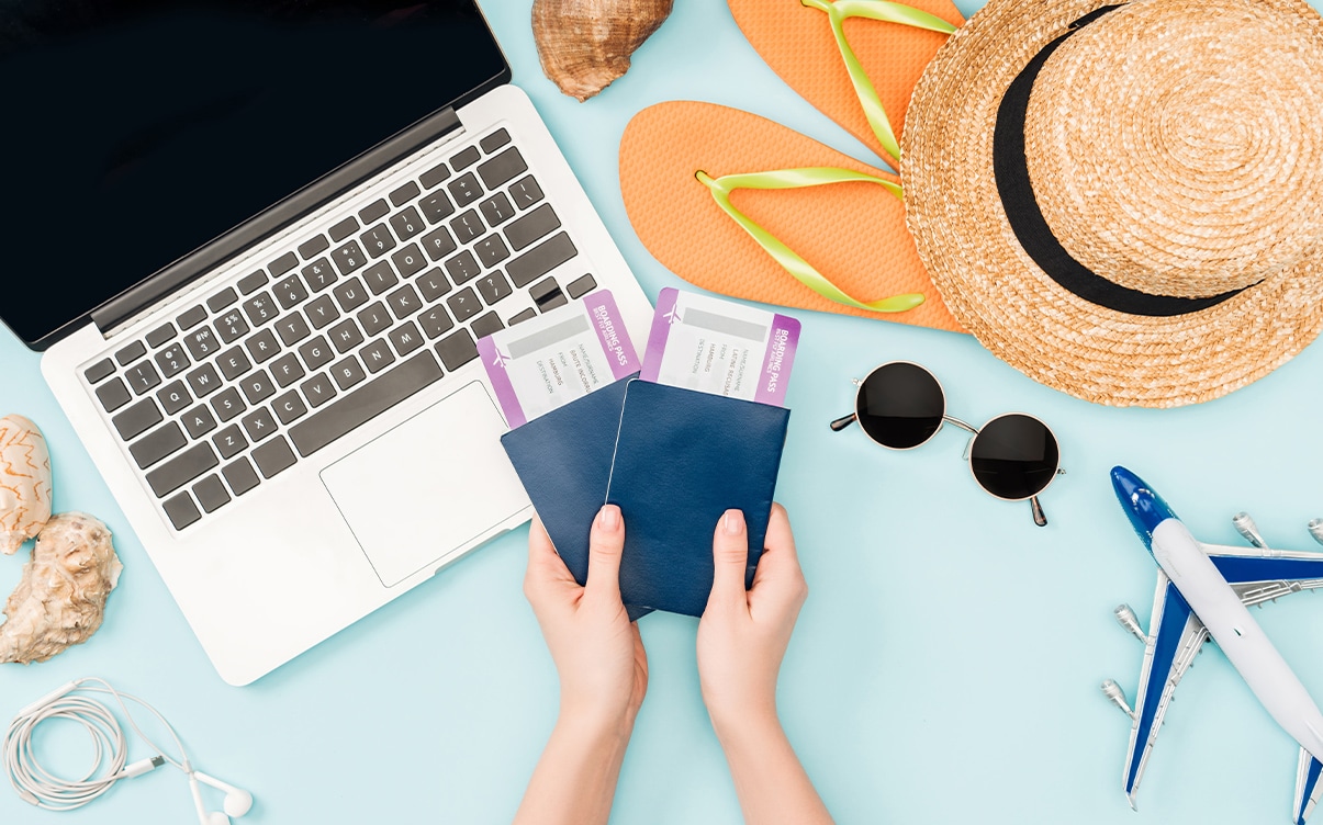
[(942, 426), (946, 398), (926, 369), (913, 364), (885, 364), (875, 369), (855, 402), (864, 432), (892, 450), (918, 447)]

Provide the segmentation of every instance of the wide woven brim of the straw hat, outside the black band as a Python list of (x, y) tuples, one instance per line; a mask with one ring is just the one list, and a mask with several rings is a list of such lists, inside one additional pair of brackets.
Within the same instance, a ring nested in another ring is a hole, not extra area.
[[(1302, 0), (1263, 3), (1323, 30)], [(910, 102), (901, 144), (906, 223), (957, 320), (1035, 381), (1113, 406), (1211, 401), (1266, 375), (1323, 329), (1323, 250), (1208, 309), (1127, 315), (1039, 268), (998, 193), (992, 138), (1007, 87), (1101, 5), (992, 0), (951, 36)]]

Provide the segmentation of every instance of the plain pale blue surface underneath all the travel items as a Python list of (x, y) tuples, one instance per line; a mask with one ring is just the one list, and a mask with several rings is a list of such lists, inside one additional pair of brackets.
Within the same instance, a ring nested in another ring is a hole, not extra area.
[[(639, 245), (620, 204), (617, 148), (638, 110), (714, 100), (869, 157), (781, 83), (716, 0), (679, 0), (630, 74), (585, 104), (541, 77), (528, 0), (484, 5), (516, 82), (652, 297), (684, 284)], [(5, 278), (20, 275), (29, 274)], [(1098, 684), (1115, 677), (1134, 697), (1142, 648), (1111, 608), (1129, 602), (1147, 624), (1154, 563), (1107, 473), (1123, 464), (1158, 484), (1204, 541), (1240, 541), (1230, 516), (1246, 509), (1270, 543), (1314, 547), (1304, 524), (1323, 516), (1315, 423), (1323, 345), (1216, 402), (1117, 410), (1036, 385), (968, 337), (796, 315), (803, 334), (778, 498), (790, 509), (812, 595), (779, 698), (790, 738), (837, 820), (1287, 821), (1297, 748), (1216, 648), (1181, 682), (1139, 814), (1130, 812), (1121, 789), (1130, 725)], [(1053, 427), (1069, 475), (1043, 496), (1048, 528), (1033, 526), (1028, 505), (979, 491), (954, 431), (921, 450), (888, 452), (857, 430), (827, 428), (851, 409), (849, 378), (892, 358), (929, 366), (963, 419), (1023, 410)], [(91, 643), (42, 665), (0, 666), (0, 718), (64, 681), (98, 674), (155, 702), (201, 769), (253, 791), (257, 806), (239, 822), (509, 820), (557, 703), (552, 660), (521, 594), (523, 530), (254, 686), (228, 688), (74, 439), (37, 357), (0, 333), (0, 412), (32, 416), (50, 442), (57, 508), (105, 518), (126, 567)], [(0, 558), (0, 592), (21, 562)], [(1323, 697), (1323, 600), (1293, 596), (1259, 616)], [(696, 623), (654, 615), (642, 625), (651, 686), (614, 821), (738, 822), (699, 697)], [(61, 764), (70, 768), (90, 758), (70, 731), (53, 731), (50, 742), (69, 746)], [(206, 799), (220, 803), (210, 791)], [(0, 787), (7, 825), (192, 821), (185, 783), (164, 769), (73, 814), (36, 812)]]

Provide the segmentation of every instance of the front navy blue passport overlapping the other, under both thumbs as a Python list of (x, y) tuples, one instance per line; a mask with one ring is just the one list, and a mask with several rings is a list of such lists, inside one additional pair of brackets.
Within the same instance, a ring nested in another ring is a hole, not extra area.
[(749, 526), (751, 586), (789, 423), (782, 407), (628, 381), (606, 494), (624, 516), (626, 604), (701, 616), (712, 535), (732, 508)]

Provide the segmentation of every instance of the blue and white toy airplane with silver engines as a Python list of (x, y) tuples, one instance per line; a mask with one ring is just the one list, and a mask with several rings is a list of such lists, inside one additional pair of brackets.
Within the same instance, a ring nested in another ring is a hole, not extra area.
[[(1301, 746), (1291, 821), (1303, 825), (1323, 792), (1323, 714), (1248, 608), (1323, 587), (1323, 553), (1267, 549), (1245, 513), (1233, 521), (1253, 547), (1203, 545), (1139, 476), (1115, 467), (1111, 483), (1159, 567), (1147, 635), (1129, 606), (1117, 608), (1117, 621), (1146, 645), (1135, 709), (1117, 682), (1102, 684), (1132, 722), (1125, 773), (1130, 805), (1176, 684), (1211, 636), (1269, 715)], [(1311, 521), (1310, 533), (1323, 543), (1323, 520)]]

